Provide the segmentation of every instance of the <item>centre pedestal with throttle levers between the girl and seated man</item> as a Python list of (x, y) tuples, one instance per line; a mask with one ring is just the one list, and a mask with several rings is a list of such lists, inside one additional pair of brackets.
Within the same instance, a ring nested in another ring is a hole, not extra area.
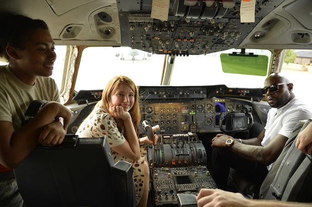
[(157, 206), (177, 204), (177, 193), (197, 195), (201, 188), (217, 188), (206, 167), (207, 154), (196, 133), (159, 135), (147, 148), (153, 199)]

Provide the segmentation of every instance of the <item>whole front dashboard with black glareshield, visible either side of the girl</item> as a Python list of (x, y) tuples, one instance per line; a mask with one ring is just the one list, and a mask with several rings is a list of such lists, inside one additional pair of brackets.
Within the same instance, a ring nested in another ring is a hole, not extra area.
[[(102, 90), (76, 94), (72, 101), (77, 105), (73, 106), (68, 133), (76, 132), (93, 104), (101, 99), (101, 94)], [(243, 113), (245, 105), (251, 106), (262, 97), (259, 89), (228, 88), (225, 85), (139, 87), (141, 121), (147, 120), (152, 126), (158, 124), (161, 134), (220, 132), (219, 120), (223, 113)], [(82, 104), (86, 106), (80, 107)], [(248, 124), (247, 118), (242, 120), (239, 123), (243, 126)], [(142, 127), (140, 132), (144, 134)]]

